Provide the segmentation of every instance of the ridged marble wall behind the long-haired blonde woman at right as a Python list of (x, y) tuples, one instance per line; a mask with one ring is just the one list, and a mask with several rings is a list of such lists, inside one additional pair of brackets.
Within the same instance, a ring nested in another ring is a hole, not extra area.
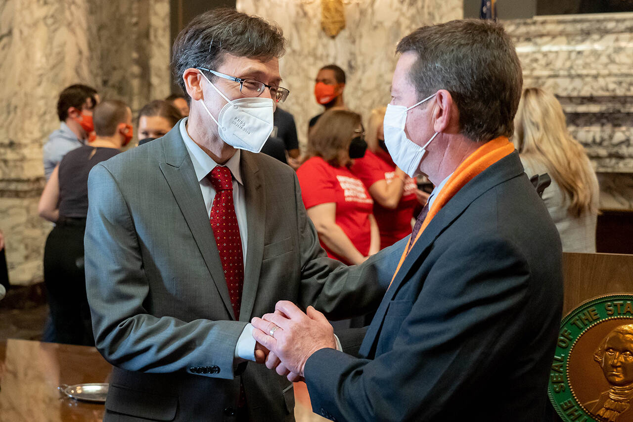
[(598, 172), (601, 208), (633, 210), (633, 13), (505, 22), (524, 86), (558, 96)]

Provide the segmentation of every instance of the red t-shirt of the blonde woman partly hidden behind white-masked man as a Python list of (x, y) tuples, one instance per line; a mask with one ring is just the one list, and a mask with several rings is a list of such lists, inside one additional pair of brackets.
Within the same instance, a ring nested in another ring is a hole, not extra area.
[[(396, 172), (396, 164), (394, 164), (389, 154), (384, 151), (373, 153), (367, 150), (365, 157), (354, 160), (351, 171), (369, 189), (372, 184), (380, 180), (386, 180), (387, 183), (391, 182)], [(404, 191), (396, 209), (389, 210), (384, 208), (378, 201), (373, 204), (373, 216), (376, 217), (380, 230), (380, 248), (391, 246), (411, 234), (413, 208), (418, 203), (415, 196), (417, 184), (411, 177), (405, 177)]]

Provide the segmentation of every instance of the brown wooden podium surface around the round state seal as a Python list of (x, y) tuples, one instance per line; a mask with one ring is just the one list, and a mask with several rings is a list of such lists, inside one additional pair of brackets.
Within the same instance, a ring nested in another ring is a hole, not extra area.
[[(633, 241), (633, 240), (632, 240)], [(563, 318), (592, 298), (615, 293), (633, 294), (633, 255), (563, 253)], [(549, 407), (551, 420), (561, 419)]]

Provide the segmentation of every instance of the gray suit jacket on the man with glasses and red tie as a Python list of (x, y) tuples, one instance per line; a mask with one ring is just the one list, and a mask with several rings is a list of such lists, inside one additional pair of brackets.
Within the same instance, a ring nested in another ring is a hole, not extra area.
[(389, 282), (396, 259), (349, 269), (328, 259), (294, 171), (244, 151), (241, 172), (248, 252), (235, 321), (179, 125), (92, 169), (85, 272), (96, 346), (115, 366), (106, 421), (233, 420), (240, 378), (251, 420), (292, 420), (289, 381), (253, 362), (234, 367), (244, 325), (282, 299), (332, 319), (379, 304), (377, 280)]

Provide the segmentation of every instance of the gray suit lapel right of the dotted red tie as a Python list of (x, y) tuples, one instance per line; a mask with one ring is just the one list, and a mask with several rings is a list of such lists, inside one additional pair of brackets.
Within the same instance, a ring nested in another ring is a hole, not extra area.
[(244, 180), (246, 230), (248, 230), (240, 321), (249, 321), (260, 284), (261, 260), (264, 253), (266, 193), (263, 186), (263, 174), (260, 172), (256, 157), (252, 153), (242, 151), (240, 169)]

